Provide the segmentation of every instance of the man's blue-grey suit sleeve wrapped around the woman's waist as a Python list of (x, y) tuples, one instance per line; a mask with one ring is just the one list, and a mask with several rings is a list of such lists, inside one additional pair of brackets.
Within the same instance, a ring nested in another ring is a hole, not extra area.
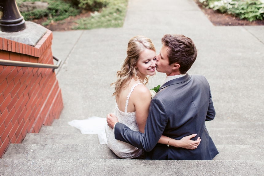
[(144, 133), (133, 131), (122, 123), (115, 125), (115, 139), (129, 143), (144, 151), (151, 151), (160, 139), (168, 122), (165, 107), (160, 99), (150, 102)]

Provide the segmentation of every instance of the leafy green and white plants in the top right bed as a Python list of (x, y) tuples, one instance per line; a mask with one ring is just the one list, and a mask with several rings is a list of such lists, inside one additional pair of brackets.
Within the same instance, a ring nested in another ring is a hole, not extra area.
[(264, 19), (264, 0), (199, 0), (207, 8), (252, 22)]

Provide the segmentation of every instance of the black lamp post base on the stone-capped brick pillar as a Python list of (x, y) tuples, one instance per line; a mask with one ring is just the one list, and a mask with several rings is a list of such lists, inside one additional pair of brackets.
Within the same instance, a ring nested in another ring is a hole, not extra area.
[(0, 0), (0, 30), (17, 32), (26, 28), (24, 17), (21, 16), (15, 0)]

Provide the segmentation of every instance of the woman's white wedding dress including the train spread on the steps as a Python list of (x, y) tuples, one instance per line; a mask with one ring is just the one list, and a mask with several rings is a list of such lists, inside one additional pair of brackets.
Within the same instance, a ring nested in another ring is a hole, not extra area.
[[(115, 103), (114, 115), (117, 117), (118, 122), (125, 124), (131, 130), (139, 131), (136, 122), (136, 112), (127, 112), (128, 100), (134, 88), (142, 83), (136, 83), (132, 86), (130, 93), (127, 96), (125, 112), (118, 109)], [(97, 134), (100, 144), (107, 144), (107, 146), (119, 157), (123, 159), (142, 158), (144, 151), (134, 147), (128, 143), (115, 139), (114, 131), (111, 127), (107, 126), (106, 118), (90, 117), (83, 120), (72, 120), (68, 122), (72, 127), (80, 129), (82, 134)]]

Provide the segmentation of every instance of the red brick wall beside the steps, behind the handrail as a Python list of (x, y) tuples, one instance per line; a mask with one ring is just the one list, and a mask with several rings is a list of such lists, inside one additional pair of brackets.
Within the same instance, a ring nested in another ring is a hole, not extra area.
[[(0, 37), (0, 59), (53, 64), (52, 32), (35, 47)], [(60, 116), (62, 96), (51, 68), (0, 66), (0, 157), (10, 143), (38, 133)]]

